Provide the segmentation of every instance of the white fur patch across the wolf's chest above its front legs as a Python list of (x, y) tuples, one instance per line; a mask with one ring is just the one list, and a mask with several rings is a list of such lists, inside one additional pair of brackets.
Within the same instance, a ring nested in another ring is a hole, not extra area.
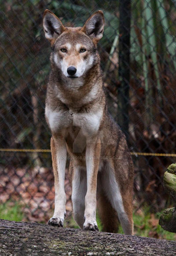
[(56, 111), (45, 108), (45, 116), (52, 132), (57, 133), (61, 130), (73, 130), (74, 126), (81, 129), (85, 136), (92, 135), (99, 130), (103, 116), (103, 110), (77, 113), (75, 111)]

